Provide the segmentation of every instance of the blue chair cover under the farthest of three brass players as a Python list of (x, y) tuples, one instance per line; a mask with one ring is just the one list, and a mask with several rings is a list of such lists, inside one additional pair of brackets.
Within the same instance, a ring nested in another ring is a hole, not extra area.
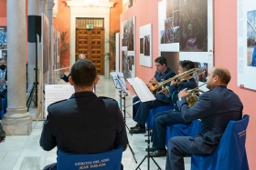
[(157, 107), (157, 108), (150, 109), (150, 111), (149, 111), (150, 122), (148, 122), (148, 119), (146, 119), (146, 123), (145, 123), (146, 127), (149, 128), (149, 129), (153, 129), (155, 114), (162, 113), (162, 112), (165, 112), (165, 111), (168, 111), (168, 110), (173, 110), (173, 108), (174, 108), (174, 105), (170, 104), (170, 105), (164, 105), (164, 106), (160, 106), (160, 107)]

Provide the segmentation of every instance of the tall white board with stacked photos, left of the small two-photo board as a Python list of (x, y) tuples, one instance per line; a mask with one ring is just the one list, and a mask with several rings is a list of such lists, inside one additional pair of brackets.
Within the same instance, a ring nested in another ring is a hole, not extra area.
[(135, 16), (121, 24), (121, 72), (125, 78), (135, 77)]

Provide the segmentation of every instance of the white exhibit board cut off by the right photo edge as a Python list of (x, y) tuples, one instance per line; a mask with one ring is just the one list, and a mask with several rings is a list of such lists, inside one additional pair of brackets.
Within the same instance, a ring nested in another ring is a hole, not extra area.
[(238, 0), (238, 85), (256, 90), (256, 3)]

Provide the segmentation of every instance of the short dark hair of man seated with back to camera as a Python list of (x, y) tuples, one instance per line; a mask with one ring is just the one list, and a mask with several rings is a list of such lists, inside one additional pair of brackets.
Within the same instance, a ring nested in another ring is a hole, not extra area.
[(74, 85), (91, 86), (97, 76), (96, 67), (90, 60), (78, 60), (70, 73)]

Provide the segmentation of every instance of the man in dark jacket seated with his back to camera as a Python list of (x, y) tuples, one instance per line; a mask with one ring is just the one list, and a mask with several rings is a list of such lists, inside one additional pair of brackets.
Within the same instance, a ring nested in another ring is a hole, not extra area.
[[(48, 105), (40, 137), (44, 150), (57, 146), (64, 152), (92, 154), (111, 151), (119, 145), (123, 151), (126, 149), (125, 123), (117, 102), (92, 93), (98, 80), (91, 61), (79, 60), (72, 66), (69, 84), (75, 93), (67, 100)], [(56, 165), (47, 165), (44, 170), (56, 169)]]

